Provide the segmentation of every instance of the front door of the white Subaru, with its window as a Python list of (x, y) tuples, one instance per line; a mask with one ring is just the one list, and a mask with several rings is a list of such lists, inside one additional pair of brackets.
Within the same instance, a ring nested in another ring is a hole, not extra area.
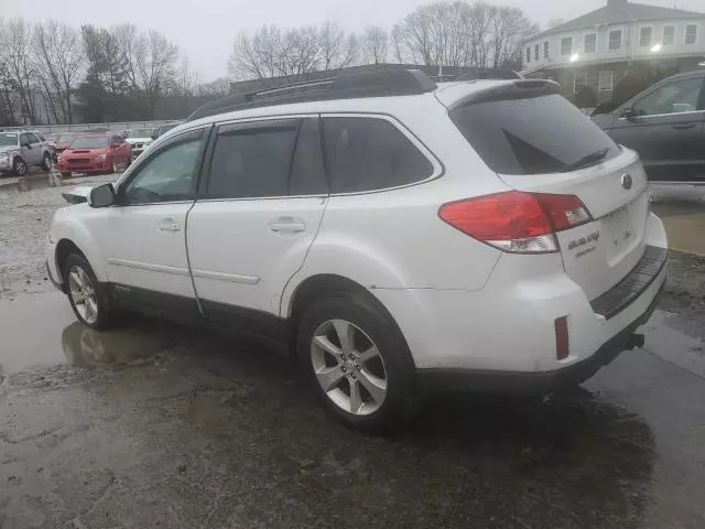
[(108, 280), (122, 301), (195, 313), (186, 257), (186, 216), (194, 204), (205, 131), (184, 132), (134, 166), (99, 209), (96, 235)]

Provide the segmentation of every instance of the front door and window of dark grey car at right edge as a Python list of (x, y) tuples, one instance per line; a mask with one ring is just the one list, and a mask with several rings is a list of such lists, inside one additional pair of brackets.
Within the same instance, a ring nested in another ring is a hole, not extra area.
[(636, 150), (651, 182), (705, 181), (703, 77), (659, 85), (615, 120), (611, 137)]

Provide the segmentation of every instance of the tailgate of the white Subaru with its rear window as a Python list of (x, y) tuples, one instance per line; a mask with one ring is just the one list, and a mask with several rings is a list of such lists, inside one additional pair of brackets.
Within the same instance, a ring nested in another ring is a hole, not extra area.
[[(593, 220), (558, 231), (566, 273), (595, 299), (644, 252), (649, 213), (637, 154), (622, 150), (560, 95), (470, 104), (451, 111), (466, 139), (509, 186), (575, 195)], [(575, 212), (579, 214), (579, 212)]]

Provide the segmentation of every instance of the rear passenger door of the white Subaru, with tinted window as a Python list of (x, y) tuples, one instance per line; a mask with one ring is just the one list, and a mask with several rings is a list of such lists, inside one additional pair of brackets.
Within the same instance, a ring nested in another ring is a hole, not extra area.
[(203, 310), (212, 321), (271, 334), (327, 202), (318, 118), (223, 125), (205, 173), (187, 231)]

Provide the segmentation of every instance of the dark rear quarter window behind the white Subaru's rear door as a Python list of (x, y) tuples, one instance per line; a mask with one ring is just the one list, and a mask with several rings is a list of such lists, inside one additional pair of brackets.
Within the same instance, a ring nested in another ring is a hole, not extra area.
[(391, 122), (381, 118), (324, 118), (332, 193), (384, 190), (421, 182), (433, 165)]

